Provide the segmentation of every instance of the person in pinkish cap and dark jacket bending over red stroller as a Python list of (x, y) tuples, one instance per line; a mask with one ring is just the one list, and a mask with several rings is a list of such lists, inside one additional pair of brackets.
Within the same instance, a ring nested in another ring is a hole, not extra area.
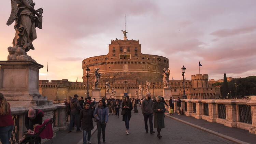
[[(25, 126), (28, 130), (28, 133), (30, 133), (32, 130), (34, 130), (34, 125), (42, 125), (43, 122), (43, 112), (38, 109), (30, 109), (26, 112), (25, 115)], [(35, 140), (35, 144), (39, 144), (41, 142), (41, 138)]]

